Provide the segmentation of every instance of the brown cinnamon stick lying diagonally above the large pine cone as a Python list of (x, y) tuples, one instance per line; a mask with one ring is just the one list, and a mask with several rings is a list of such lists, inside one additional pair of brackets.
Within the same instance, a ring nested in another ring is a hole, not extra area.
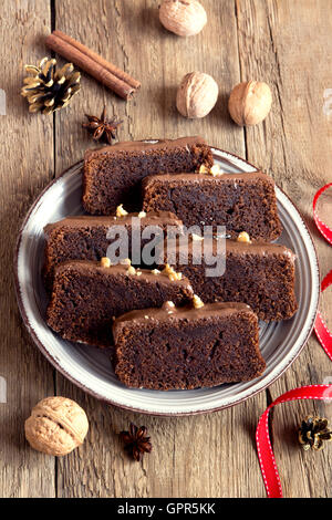
[(129, 74), (121, 71), (117, 66), (61, 31), (53, 31), (52, 34), (46, 37), (46, 45), (124, 100), (131, 98), (141, 87), (141, 83)]

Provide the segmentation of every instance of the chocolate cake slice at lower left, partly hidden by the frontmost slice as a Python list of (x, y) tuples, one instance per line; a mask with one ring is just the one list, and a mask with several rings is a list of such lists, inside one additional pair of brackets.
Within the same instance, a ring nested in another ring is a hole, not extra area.
[(54, 271), (48, 324), (63, 339), (91, 345), (112, 345), (114, 318), (133, 309), (162, 306), (167, 300), (177, 305), (191, 301), (188, 280), (159, 271), (135, 270), (132, 266), (72, 261)]

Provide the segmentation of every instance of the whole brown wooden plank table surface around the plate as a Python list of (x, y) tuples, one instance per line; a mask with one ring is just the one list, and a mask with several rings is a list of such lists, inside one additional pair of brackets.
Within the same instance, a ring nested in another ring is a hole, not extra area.
[[(181, 39), (160, 27), (157, 0), (1, 2), (7, 115), (0, 115), (0, 376), (8, 384), (8, 402), (0, 404), (1, 497), (264, 497), (255, 446), (259, 416), (290, 388), (331, 383), (331, 362), (312, 335), (282, 377), (241, 405), (196, 417), (137, 415), (73, 386), (21, 324), (12, 274), (21, 221), (50, 180), (93, 146), (81, 124), (84, 113), (98, 115), (104, 104), (124, 119), (121, 141), (199, 134), (270, 173), (305, 217), (322, 274), (331, 268), (331, 249), (314, 227), (311, 202), (332, 177), (332, 119), (324, 105), (324, 92), (332, 89), (332, 1), (203, 3), (207, 27)], [(135, 100), (125, 103), (83, 73), (82, 90), (66, 110), (30, 115), (20, 96), (23, 66), (50, 55), (44, 37), (55, 28), (139, 79)], [(211, 74), (220, 89), (215, 110), (200, 121), (187, 121), (175, 108), (176, 87), (194, 70)], [(250, 79), (269, 83), (273, 106), (263, 124), (243, 129), (230, 121), (227, 100), (235, 84)], [(329, 295), (321, 305), (331, 314)], [(64, 458), (41, 455), (24, 440), (24, 419), (49, 395), (75, 399), (90, 420), (84, 445)], [(286, 497), (332, 496), (332, 446), (304, 453), (295, 434), (307, 414), (332, 419), (331, 410), (332, 405), (312, 402), (276, 408), (271, 429)], [(146, 425), (154, 444), (141, 464), (126, 458), (117, 437), (131, 420)]]

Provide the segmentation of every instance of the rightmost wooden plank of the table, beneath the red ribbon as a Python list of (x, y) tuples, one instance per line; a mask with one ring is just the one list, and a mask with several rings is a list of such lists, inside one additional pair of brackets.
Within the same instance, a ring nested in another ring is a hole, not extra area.
[[(246, 131), (248, 159), (270, 171), (299, 206), (322, 274), (331, 268), (331, 251), (314, 228), (311, 204), (317, 189), (332, 178), (332, 128), (323, 113), (323, 92), (331, 87), (331, 1), (237, 0), (241, 79), (266, 81), (273, 92), (271, 115)], [(325, 315), (331, 310), (331, 299), (324, 298)], [(331, 382), (331, 363), (312, 336), (270, 387), (272, 398), (326, 377)], [(287, 497), (331, 497), (331, 447), (308, 454), (297, 445), (297, 425), (312, 412), (331, 418), (331, 405), (312, 402), (282, 405), (274, 413), (276, 457)]]

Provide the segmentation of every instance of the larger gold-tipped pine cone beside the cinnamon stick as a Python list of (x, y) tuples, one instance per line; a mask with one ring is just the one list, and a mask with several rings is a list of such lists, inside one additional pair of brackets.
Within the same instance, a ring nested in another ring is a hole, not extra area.
[(65, 107), (81, 87), (81, 74), (72, 63), (55, 70), (56, 60), (43, 58), (39, 66), (25, 65), (32, 75), (23, 80), (22, 96), (27, 97), (29, 112), (51, 114)]

